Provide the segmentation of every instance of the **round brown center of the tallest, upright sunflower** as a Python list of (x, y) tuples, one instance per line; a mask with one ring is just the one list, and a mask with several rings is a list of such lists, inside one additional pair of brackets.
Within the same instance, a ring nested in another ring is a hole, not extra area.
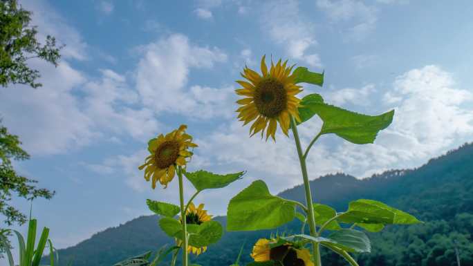
[(254, 89), (254, 104), (266, 117), (277, 117), (288, 104), (284, 84), (276, 79), (263, 79)]

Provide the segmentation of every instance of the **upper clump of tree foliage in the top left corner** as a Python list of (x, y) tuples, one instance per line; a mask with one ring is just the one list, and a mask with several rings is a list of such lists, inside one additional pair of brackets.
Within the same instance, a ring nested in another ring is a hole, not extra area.
[(44, 59), (55, 66), (59, 60), (56, 39), (47, 36), (45, 44), (37, 40), (37, 27), (30, 26), (31, 12), (17, 0), (0, 0), (0, 85), (26, 84), (37, 88), (39, 70), (28, 66), (28, 59)]

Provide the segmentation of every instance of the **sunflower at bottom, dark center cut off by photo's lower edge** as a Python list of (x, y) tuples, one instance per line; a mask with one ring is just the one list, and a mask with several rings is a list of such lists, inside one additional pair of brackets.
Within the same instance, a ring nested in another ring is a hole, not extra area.
[(314, 263), (310, 260), (308, 249), (297, 248), (290, 242), (277, 247), (270, 247), (271, 243), (275, 243), (275, 240), (260, 238), (254, 244), (251, 254), (254, 261), (278, 260), (283, 266), (314, 266)]

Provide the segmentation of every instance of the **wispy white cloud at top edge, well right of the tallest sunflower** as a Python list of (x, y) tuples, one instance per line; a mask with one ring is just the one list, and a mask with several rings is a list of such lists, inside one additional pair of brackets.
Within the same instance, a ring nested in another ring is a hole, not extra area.
[(378, 9), (358, 0), (317, 0), (317, 7), (324, 10), (335, 23), (347, 23), (351, 39), (360, 41), (367, 37), (378, 21)]

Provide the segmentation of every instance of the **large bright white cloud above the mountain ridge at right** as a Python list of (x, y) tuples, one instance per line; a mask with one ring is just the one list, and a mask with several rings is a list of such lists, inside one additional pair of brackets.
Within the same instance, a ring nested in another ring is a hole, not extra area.
[[(393, 124), (375, 144), (337, 149), (360, 176), (391, 168), (417, 167), (429, 158), (471, 140), (473, 93), (456, 88), (451, 73), (438, 66), (409, 70), (396, 78), (384, 104), (395, 108)], [(471, 105), (470, 105), (471, 106)]]

